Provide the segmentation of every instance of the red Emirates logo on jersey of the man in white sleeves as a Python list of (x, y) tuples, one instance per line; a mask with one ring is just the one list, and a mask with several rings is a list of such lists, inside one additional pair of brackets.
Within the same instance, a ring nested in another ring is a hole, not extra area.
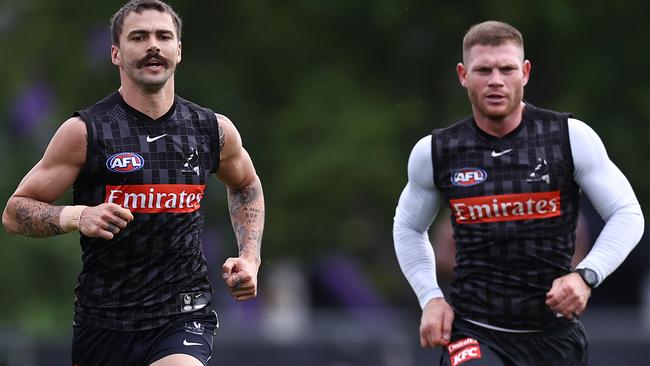
[(458, 224), (546, 219), (560, 216), (560, 191), (502, 194), (449, 201)]

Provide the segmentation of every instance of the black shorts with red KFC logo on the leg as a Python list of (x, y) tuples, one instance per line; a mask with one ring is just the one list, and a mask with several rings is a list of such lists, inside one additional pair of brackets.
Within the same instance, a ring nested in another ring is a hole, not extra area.
[(442, 349), (443, 366), (582, 366), (587, 335), (579, 321), (531, 333), (502, 332), (454, 320), (451, 342)]

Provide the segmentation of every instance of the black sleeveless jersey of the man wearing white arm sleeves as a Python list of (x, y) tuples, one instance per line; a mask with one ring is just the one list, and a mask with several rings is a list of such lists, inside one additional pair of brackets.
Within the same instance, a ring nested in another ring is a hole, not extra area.
[(579, 188), (569, 116), (526, 104), (521, 124), (501, 138), (473, 117), (433, 131), (434, 182), (456, 241), (457, 316), (512, 329), (569, 322), (545, 304), (574, 252)]

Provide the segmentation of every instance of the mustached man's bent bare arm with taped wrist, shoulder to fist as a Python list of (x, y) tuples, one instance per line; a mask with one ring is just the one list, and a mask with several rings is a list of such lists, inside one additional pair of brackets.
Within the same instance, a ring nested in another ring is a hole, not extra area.
[(7, 201), (2, 223), (9, 233), (47, 237), (78, 228), (87, 236), (111, 239), (126, 226), (133, 216), (114, 204), (85, 210), (80, 206), (52, 205), (77, 179), (86, 161), (86, 145), (86, 125), (80, 118), (61, 125), (41, 160)]

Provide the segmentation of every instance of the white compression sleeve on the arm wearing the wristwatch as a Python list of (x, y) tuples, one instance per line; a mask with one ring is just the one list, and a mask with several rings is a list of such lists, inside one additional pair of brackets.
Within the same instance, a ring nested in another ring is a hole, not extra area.
[(592, 249), (577, 267), (593, 269), (600, 284), (641, 240), (643, 213), (630, 183), (609, 159), (594, 130), (569, 118), (569, 141), (574, 179), (605, 220)]

